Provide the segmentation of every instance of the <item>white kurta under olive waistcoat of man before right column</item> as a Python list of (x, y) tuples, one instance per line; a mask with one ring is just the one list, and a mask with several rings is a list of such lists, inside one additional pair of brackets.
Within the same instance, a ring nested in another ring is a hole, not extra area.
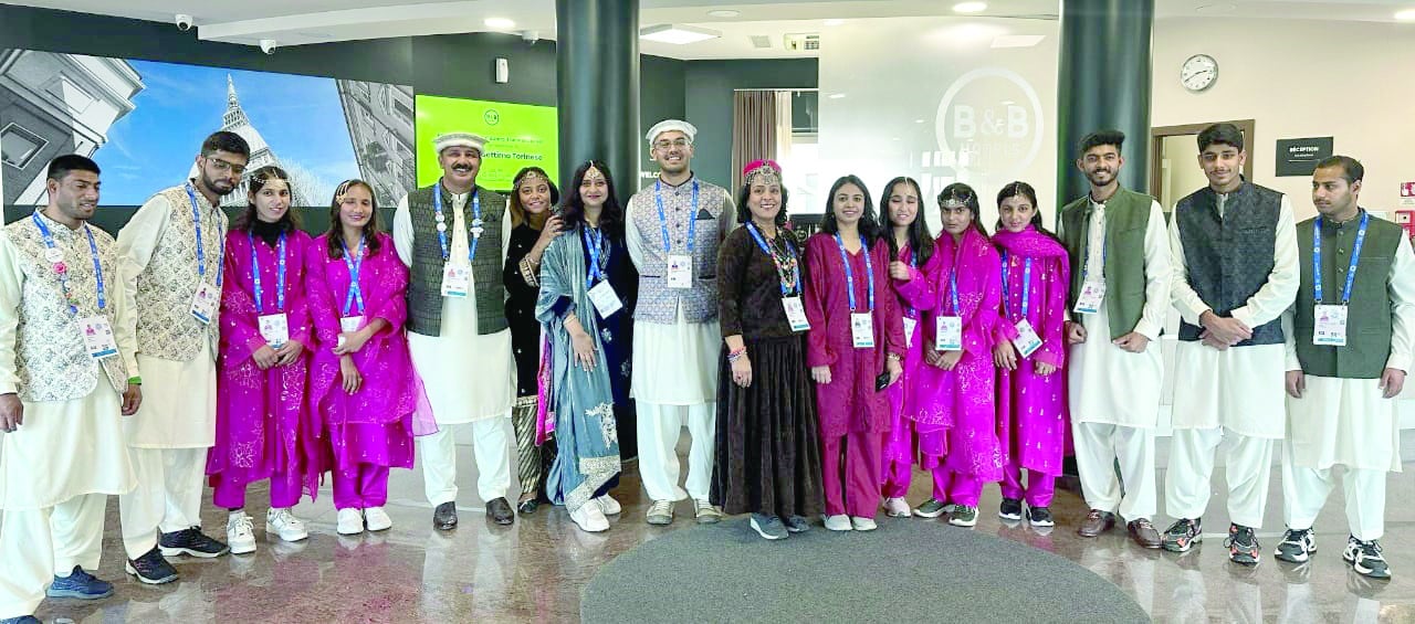
[[(1088, 270), (1105, 275), (1105, 205), (1091, 204)], [(1129, 260), (1133, 262), (1133, 260)], [(1153, 429), (1159, 419), (1165, 358), (1159, 341), (1170, 301), (1170, 253), (1165, 214), (1150, 204), (1145, 228), (1145, 308), (1135, 331), (1150, 340), (1143, 354), (1132, 354), (1111, 342), (1111, 317), (1102, 303), (1095, 314), (1080, 317), (1087, 340), (1071, 347), (1067, 362), (1073, 423), (1119, 424)], [(1124, 382), (1119, 382), (1124, 381)]]

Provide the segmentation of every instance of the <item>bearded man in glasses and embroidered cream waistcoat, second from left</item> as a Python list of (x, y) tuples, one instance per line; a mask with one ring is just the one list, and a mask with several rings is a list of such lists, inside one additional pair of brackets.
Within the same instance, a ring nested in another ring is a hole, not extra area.
[[(143, 408), (123, 423), (137, 488), (119, 498), (127, 572), (168, 583), (163, 556), (215, 557), (226, 545), (201, 532), (207, 450), (216, 441), (216, 342), (221, 327), (226, 214), (221, 198), (241, 185), (250, 146), (216, 132), (197, 154), (195, 175), (158, 191), (117, 233), (119, 272)], [(160, 539), (158, 539), (160, 532)]]

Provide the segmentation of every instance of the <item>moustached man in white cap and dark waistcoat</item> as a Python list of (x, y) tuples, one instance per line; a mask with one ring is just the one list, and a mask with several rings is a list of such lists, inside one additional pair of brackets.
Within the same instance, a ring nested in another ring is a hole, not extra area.
[(423, 490), (443, 531), (457, 526), (453, 424), (471, 424), (487, 515), (499, 525), (515, 519), (507, 502), (515, 362), (502, 276), (511, 212), (505, 197), (477, 185), (485, 144), (470, 133), (436, 137), (441, 178), (409, 192), (393, 214), (393, 246), (409, 267), (408, 349), (439, 429), (417, 440)]

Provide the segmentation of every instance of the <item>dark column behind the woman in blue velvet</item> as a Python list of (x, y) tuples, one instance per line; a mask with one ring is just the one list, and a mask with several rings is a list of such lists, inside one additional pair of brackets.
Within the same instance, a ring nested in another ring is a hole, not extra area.
[(638, 190), (638, 0), (556, 0), (560, 190), (604, 160), (621, 202)]

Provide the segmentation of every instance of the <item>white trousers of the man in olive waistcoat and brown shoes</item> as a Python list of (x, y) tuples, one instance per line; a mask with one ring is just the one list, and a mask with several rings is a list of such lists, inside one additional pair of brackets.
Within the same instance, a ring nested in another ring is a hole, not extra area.
[[(1155, 432), (1102, 423), (1071, 423), (1081, 495), (1092, 509), (1119, 512), (1125, 522), (1153, 518)], [(1119, 463), (1121, 474), (1115, 475)], [(1124, 481), (1124, 485), (1122, 485)]]

